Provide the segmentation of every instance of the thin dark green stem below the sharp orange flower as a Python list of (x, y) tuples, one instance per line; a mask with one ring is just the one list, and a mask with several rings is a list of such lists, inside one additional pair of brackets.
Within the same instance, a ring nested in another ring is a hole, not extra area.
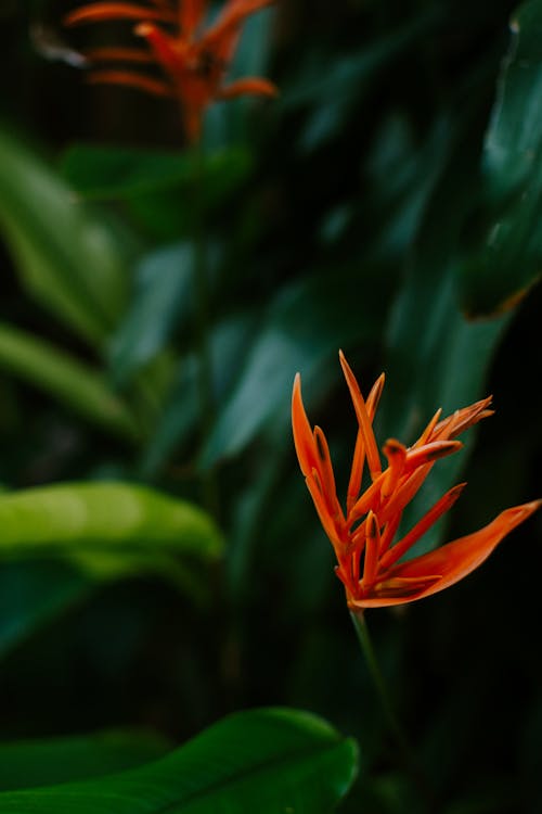
[(361, 645), (363, 656), (365, 657), (366, 665), (378, 695), (378, 700), (380, 702), (380, 707), (384, 712), (384, 716), (388, 724), (389, 730), (393, 736), (399, 751), (401, 752), (405, 768), (408, 770), (421, 796), (424, 798), (427, 804), (427, 811), (434, 812), (435, 801), (433, 799), (433, 793), (427, 786), (426, 778), (423, 776), (420, 766), (415, 761), (409, 738), (406, 737), (404, 729), (399, 718), (397, 717), (384, 675), (380, 670), (380, 665), (378, 664), (378, 660), (376, 658), (373, 643), (365, 622), (365, 615), (362, 610), (350, 610), (350, 616), (352, 619), (353, 626), (358, 635), (358, 640)]

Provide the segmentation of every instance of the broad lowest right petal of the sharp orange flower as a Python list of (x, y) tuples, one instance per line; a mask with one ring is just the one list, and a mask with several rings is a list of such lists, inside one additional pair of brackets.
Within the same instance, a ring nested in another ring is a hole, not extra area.
[[(433, 574), (440, 574), (440, 578), (423, 590), (416, 599), (430, 596), (443, 590), (450, 585), (463, 580), (486, 560), (499, 543), (519, 523), (527, 520), (542, 505), (542, 500), (533, 500), (522, 506), (514, 506), (502, 511), (491, 523), (466, 537), (460, 537), (424, 554), (409, 562), (396, 565), (388, 572), (389, 578), (423, 578)], [(411, 601), (408, 599), (406, 601)]]

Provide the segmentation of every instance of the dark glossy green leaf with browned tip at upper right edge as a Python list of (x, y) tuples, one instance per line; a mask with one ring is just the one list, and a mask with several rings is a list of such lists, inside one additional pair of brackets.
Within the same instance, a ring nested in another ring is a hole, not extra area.
[(542, 264), (541, 0), (520, 5), (511, 29), (483, 152), (485, 244), (462, 269), (473, 315), (512, 307), (540, 279)]

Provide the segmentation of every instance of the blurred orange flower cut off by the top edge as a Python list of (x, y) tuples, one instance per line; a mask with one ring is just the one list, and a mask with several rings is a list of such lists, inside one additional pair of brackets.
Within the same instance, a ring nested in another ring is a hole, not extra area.
[(184, 127), (191, 141), (199, 138), (205, 109), (215, 100), (245, 93), (276, 96), (267, 79), (247, 77), (223, 87), (222, 80), (233, 59), (246, 17), (273, 0), (227, 0), (217, 21), (201, 31), (206, 0), (149, 0), (150, 5), (131, 2), (94, 2), (76, 9), (65, 18), (68, 26), (107, 20), (133, 21), (133, 31), (147, 48), (96, 48), (87, 52), (91, 64), (149, 64), (156, 62), (164, 74), (155, 78), (126, 67), (100, 68), (90, 75), (93, 82), (115, 82), (155, 96), (179, 99)]

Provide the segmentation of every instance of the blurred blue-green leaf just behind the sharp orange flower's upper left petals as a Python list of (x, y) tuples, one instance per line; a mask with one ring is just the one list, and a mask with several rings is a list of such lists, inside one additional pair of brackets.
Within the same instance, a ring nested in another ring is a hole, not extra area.
[(202, 451), (202, 467), (241, 451), (271, 420), (285, 432), (296, 372), (310, 380), (337, 348), (374, 338), (383, 307), (378, 285), (353, 309), (347, 279), (339, 272), (314, 276), (281, 291)]

